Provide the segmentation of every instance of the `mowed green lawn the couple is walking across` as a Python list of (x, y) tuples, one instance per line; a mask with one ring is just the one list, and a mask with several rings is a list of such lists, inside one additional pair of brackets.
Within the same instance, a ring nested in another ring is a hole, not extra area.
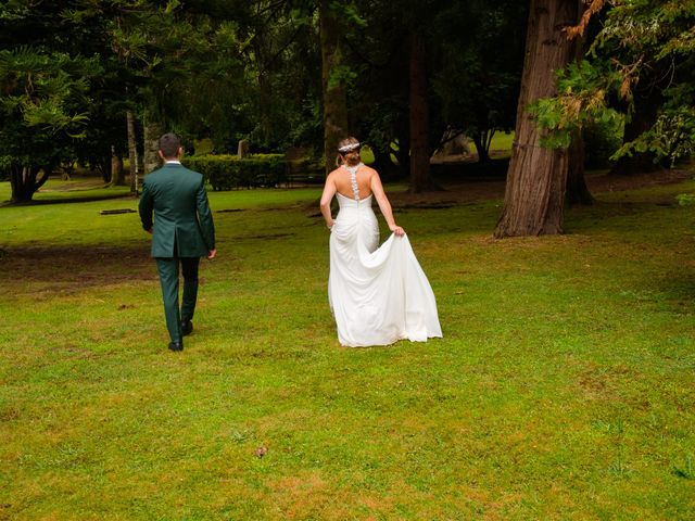
[(137, 214), (101, 215), (135, 200), (0, 207), (0, 519), (692, 519), (686, 191), (504, 241), (500, 201), (396, 207), (444, 338), (359, 350), (318, 188), (210, 194), (182, 353)]

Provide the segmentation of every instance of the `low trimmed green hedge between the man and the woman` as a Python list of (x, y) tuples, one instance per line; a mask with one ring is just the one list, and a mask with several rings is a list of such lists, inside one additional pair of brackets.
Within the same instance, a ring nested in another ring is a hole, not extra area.
[(276, 187), (287, 181), (288, 165), (282, 154), (254, 154), (243, 160), (236, 155), (191, 156), (182, 163), (200, 171), (215, 191)]

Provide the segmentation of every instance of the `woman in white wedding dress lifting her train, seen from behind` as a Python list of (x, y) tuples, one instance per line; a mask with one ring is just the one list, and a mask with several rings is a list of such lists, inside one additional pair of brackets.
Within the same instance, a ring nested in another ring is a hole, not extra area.
[[(442, 336), (430, 283), (393, 219), (379, 174), (361, 162), (359, 148), (355, 138), (338, 143), (340, 166), (328, 175), (320, 202), (331, 230), (328, 300), (338, 340), (358, 347)], [(333, 196), (340, 205), (336, 219)], [(393, 232), (381, 246), (372, 199)]]

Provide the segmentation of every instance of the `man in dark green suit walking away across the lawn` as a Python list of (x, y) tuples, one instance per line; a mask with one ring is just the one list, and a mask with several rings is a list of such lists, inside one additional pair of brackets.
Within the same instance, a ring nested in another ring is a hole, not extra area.
[[(184, 350), (184, 336), (193, 331), (200, 257), (212, 259), (215, 227), (207, 204), (203, 176), (181, 165), (184, 153), (178, 137), (160, 138), (164, 166), (144, 177), (140, 196), (142, 228), (152, 233), (152, 256), (160, 274), (169, 350)], [(154, 212), (154, 226), (152, 223)], [(179, 265), (184, 274), (184, 298), (178, 307)]]

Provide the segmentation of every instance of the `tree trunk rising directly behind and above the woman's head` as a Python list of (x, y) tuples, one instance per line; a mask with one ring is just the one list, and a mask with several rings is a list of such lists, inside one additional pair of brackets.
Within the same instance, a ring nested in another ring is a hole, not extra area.
[(329, 0), (319, 3), (321, 45), (321, 85), (324, 91), (324, 158), (326, 174), (334, 168), (338, 141), (348, 137), (348, 94), (342, 80), (336, 76), (342, 61), (342, 28)]

